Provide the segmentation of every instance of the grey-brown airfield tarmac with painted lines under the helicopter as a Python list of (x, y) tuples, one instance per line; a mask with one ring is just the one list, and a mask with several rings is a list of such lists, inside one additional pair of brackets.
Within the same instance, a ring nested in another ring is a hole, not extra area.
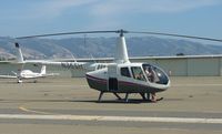
[[(118, 101), (85, 79), (39, 79), (18, 84), (0, 79), (2, 134), (221, 134), (222, 78), (171, 78), (162, 101)], [(124, 94), (121, 94), (123, 97)]]

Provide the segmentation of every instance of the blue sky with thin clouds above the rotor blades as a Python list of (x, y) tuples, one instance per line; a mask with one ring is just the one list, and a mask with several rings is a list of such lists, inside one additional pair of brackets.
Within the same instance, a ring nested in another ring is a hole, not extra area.
[(118, 29), (222, 39), (222, 0), (0, 0), (0, 37)]

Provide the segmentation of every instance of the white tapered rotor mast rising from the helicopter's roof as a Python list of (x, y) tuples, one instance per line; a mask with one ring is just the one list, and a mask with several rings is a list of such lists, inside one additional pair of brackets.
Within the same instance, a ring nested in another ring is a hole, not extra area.
[(123, 35), (123, 31), (120, 31), (120, 37), (118, 39), (117, 43), (117, 50), (115, 50), (115, 62), (117, 63), (127, 63), (129, 61), (128, 56), (128, 50), (125, 44), (125, 38)]

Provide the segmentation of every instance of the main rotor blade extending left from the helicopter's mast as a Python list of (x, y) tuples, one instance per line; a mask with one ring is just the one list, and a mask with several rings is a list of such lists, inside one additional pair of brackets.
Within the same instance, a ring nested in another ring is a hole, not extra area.
[(60, 32), (60, 33), (50, 33), (50, 34), (37, 34), (28, 37), (19, 37), (16, 39), (29, 39), (29, 38), (42, 38), (42, 37), (56, 37), (56, 35), (68, 35), (68, 34), (84, 34), (84, 33), (119, 33), (118, 31), (80, 31), (80, 32)]

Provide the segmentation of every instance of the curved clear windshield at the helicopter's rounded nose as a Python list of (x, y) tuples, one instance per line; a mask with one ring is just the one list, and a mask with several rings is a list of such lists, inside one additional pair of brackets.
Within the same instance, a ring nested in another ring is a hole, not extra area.
[(151, 83), (168, 84), (169, 78), (161, 69), (151, 64), (143, 64), (142, 66), (148, 81)]

